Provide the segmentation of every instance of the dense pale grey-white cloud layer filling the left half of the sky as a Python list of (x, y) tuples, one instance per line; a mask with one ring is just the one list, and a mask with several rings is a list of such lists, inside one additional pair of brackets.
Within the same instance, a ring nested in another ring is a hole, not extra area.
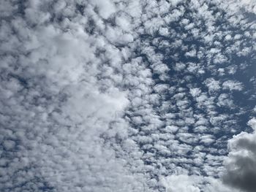
[[(1, 22), (0, 191), (150, 191), (146, 175), (132, 171), (141, 161), (127, 166), (129, 158), (116, 158), (110, 143), (121, 139), (126, 153), (139, 157), (122, 119), (129, 104), (117, 87), (122, 53), (109, 42), (116, 35), (124, 46), (132, 37), (104, 22), (117, 12), (113, 2), (20, 6), (25, 15), (7, 9), (10, 18)], [(94, 32), (105, 25), (108, 33), (88, 33), (91, 19)]]

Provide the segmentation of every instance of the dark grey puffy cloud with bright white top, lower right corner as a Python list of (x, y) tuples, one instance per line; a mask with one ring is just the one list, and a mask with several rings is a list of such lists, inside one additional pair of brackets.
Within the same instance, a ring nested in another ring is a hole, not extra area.
[(241, 132), (228, 141), (223, 180), (233, 188), (252, 192), (256, 188), (256, 119), (249, 120), (252, 133)]

